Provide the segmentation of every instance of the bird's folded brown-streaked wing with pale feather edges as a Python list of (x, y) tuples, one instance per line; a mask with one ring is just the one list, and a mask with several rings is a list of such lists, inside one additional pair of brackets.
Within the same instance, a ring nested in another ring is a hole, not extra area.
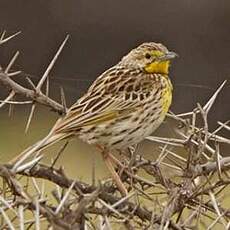
[(154, 93), (154, 83), (141, 79), (140, 70), (113, 67), (91, 85), (88, 92), (68, 110), (56, 125), (56, 132), (75, 132), (84, 126), (98, 125), (128, 116)]

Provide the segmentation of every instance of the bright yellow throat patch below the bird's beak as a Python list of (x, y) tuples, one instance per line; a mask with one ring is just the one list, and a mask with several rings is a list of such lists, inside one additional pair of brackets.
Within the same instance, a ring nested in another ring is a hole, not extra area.
[(169, 73), (170, 61), (155, 61), (148, 64), (145, 67), (147, 73), (159, 73), (159, 74), (168, 74)]

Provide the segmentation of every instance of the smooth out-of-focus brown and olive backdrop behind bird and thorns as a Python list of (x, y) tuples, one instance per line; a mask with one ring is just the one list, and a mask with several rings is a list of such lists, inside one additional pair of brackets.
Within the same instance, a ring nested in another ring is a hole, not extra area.
[[(52, 97), (60, 100), (63, 86), (68, 105), (100, 73), (146, 41), (162, 42), (179, 54), (170, 74), (174, 113), (190, 111), (197, 102), (203, 105), (225, 79), (230, 79), (230, 1), (0, 0), (0, 31), (3, 30), (9, 35), (22, 33), (0, 47), (0, 65), (6, 66), (19, 50), (14, 68), (30, 74), (34, 82), (66, 34), (70, 34), (50, 78)], [(17, 80), (23, 82), (20, 77)], [(6, 95), (0, 85), (1, 98)], [(228, 82), (209, 114), (211, 129), (216, 127), (216, 121), (230, 118), (229, 96)], [(24, 134), (29, 112), (29, 106), (17, 106), (9, 117), (7, 107), (0, 110), (0, 161), (9, 160), (43, 137), (58, 117), (38, 107), (29, 132)], [(166, 122), (158, 132), (164, 135), (172, 129)], [(143, 148), (152, 155), (149, 145), (146, 142)], [(50, 152), (55, 150), (51, 148)], [(92, 164), (99, 177), (105, 173), (95, 148), (78, 140), (68, 145), (59, 164), (70, 175), (83, 179), (91, 176)]]

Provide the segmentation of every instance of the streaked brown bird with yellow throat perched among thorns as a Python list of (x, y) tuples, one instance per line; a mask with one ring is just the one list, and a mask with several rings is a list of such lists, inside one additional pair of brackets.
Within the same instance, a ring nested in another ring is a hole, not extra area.
[(172, 102), (169, 69), (176, 56), (156, 42), (132, 49), (96, 78), (45, 138), (11, 161), (14, 168), (60, 140), (77, 137), (101, 149), (112, 178), (125, 196), (127, 190), (114, 169), (110, 151), (140, 143), (164, 121)]

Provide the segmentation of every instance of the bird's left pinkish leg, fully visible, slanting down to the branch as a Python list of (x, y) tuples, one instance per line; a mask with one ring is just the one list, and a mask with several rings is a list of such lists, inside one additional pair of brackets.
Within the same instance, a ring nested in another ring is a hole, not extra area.
[[(99, 147), (102, 151), (102, 157), (104, 159), (104, 162), (114, 180), (114, 182), (117, 185), (117, 188), (119, 189), (120, 193), (122, 194), (122, 196), (127, 196), (128, 192), (124, 186), (124, 184), (121, 181), (121, 178), (119, 177), (119, 175), (117, 174), (117, 172), (115, 171), (112, 161), (118, 161), (116, 158), (111, 157), (112, 155), (106, 151), (106, 149), (103, 149), (101, 146)], [(116, 159), (116, 160), (115, 160)], [(119, 162), (119, 161), (118, 161)], [(116, 162), (115, 162), (116, 163)], [(120, 163), (120, 162), (119, 162)], [(120, 163), (121, 164), (121, 163)]]

